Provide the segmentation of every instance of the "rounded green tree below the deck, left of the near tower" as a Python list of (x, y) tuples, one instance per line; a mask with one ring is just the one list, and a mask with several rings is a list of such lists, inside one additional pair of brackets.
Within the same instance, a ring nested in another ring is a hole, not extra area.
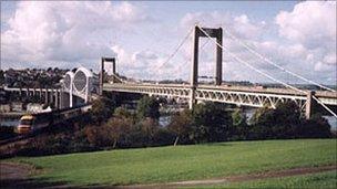
[(137, 118), (143, 119), (146, 117), (159, 119), (160, 118), (160, 104), (154, 97), (144, 96), (137, 103)]

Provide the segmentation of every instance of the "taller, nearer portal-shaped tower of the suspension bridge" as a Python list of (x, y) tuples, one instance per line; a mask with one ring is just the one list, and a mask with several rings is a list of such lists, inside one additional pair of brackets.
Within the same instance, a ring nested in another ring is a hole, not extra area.
[[(211, 38), (215, 38), (216, 42), (222, 45), (223, 44), (223, 29), (211, 29), (211, 28), (202, 28)], [(194, 28), (193, 35), (193, 52), (192, 52), (192, 70), (191, 70), (191, 96), (190, 96), (190, 108), (193, 108), (195, 104), (195, 88), (197, 86), (197, 77), (198, 77), (198, 39), (207, 38), (207, 35), (203, 32), (197, 25)], [(216, 45), (216, 59), (215, 59), (215, 85), (222, 84), (223, 77), (223, 51)]]

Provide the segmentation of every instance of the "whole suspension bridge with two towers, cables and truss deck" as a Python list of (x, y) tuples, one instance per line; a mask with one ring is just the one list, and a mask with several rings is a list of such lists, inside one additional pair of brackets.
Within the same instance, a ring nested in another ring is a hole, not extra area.
[[(294, 85), (287, 84), (275, 76), (268, 74), (267, 72), (262, 71), (257, 66), (254, 66), (252, 63), (243, 60), (235, 53), (232, 53), (228, 48), (223, 45), (223, 31), (236, 41), (239, 45), (246, 49), (254, 56), (258, 57), (261, 61), (272, 65), (282, 72), (290, 74), (306, 83), (318, 86), (321, 90), (308, 91), (302, 90)], [(101, 72), (100, 72), (100, 94), (104, 91), (106, 92), (124, 92), (124, 93), (141, 93), (154, 96), (164, 96), (164, 97), (175, 97), (184, 98), (188, 101), (190, 108), (193, 108), (194, 105), (200, 101), (211, 101), (219, 102), (227, 104), (235, 104), (238, 106), (251, 106), (251, 107), (263, 107), (269, 106), (275, 108), (278, 103), (284, 103), (288, 101), (295, 102), (298, 107), (305, 113), (305, 116), (309, 118), (315, 111), (315, 106), (321, 106), (326, 112), (336, 116), (337, 107), (337, 92), (333, 88), (329, 88), (325, 85), (321, 85), (317, 82), (308, 80), (299, 74), (296, 74), (289, 70), (286, 70), (267, 59), (247, 43), (243, 42), (231, 32), (223, 30), (222, 28), (202, 28), (195, 25), (191, 29), (183, 41), (177, 45), (172, 54), (163, 62), (159, 67), (162, 69), (167, 64), (173, 56), (180, 51), (182, 45), (187, 41), (190, 35), (193, 34), (193, 53), (192, 59), (187, 60), (186, 63), (191, 61), (191, 80), (187, 84), (151, 84), (144, 82), (135, 82), (125, 78), (121, 78), (115, 70), (115, 59), (114, 57), (102, 57), (101, 60)], [(200, 48), (200, 38), (206, 38), (208, 41), (213, 42), (216, 45), (216, 59), (215, 59), (215, 73), (212, 78), (214, 78), (213, 85), (205, 85), (198, 83), (198, 52), (200, 49), (203, 49), (206, 41)], [(283, 85), (280, 88), (264, 88), (264, 87), (252, 87), (252, 86), (228, 86), (224, 85), (223, 82), (223, 53), (226, 52), (236, 62), (245, 65), (252, 71), (258, 73), (259, 75)], [(112, 64), (112, 74), (106, 78), (105, 65), (106, 63)]]

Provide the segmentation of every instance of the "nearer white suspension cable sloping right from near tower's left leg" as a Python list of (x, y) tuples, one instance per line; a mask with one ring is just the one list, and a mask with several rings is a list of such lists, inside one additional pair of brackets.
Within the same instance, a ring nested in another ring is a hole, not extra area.
[[(285, 85), (285, 86), (287, 86), (287, 87), (289, 87), (289, 88), (293, 88), (293, 90), (295, 90), (295, 91), (297, 91), (297, 92), (300, 92), (300, 93), (306, 94), (305, 91), (299, 90), (299, 88), (297, 88), (297, 87), (295, 87), (295, 86), (292, 86), (292, 85), (289, 85), (289, 84), (286, 84), (286, 83), (282, 82), (282, 81), (278, 81), (278, 80), (274, 78), (273, 76), (270, 76), (270, 75), (268, 75), (268, 74), (262, 72), (261, 70), (254, 67), (254, 66), (251, 65), (249, 63), (243, 61), (242, 59), (237, 57), (236, 55), (234, 55), (233, 53), (231, 53), (227, 49), (225, 49), (223, 45), (221, 45), (217, 41), (215, 41), (213, 38), (211, 38), (211, 36), (208, 35), (208, 33), (205, 32), (204, 29), (202, 29), (200, 25), (196, 25), (196, 27), (197, 27), (197, 28), (198, 28), (198, 29), (200, 29), (200, 30), (201, 30), (210, 40), (212, 40), (217, 46), (219, 46), (222, 50), (227, 51), (228, 54), (229, 54), (232, 57), (234, 57), (235, 60), (237, 60), (238, 62), (245, 64), (246, 66), (251, 67), (252, 70), (258, 72), (259, 74), (263, 74), (264, 76), (266, 76), (266, 77), (268, 77), (268, 78), (270, 78), (270, 80), (273, 80), (273, 81), (275, 81), (275, 82), (277, 82), (277, 83), (280, 83), (280, 84), (283, 84), (283, 85)], [(326, 105), (324, 105), (324, 103), (323, 103), (320, 99), (318, 99), (318, 98), (315, 97), (315, 96), (313, 96), (313, 98), (314, 98), (318, 104), (323, 105), (323, 107), (324, 107), (326, 111), (328, 111), (329, 113), (331, 113), (334, 117), (337, 118), (337, 115), (336, 115), (329, 107), (327, 107)]]

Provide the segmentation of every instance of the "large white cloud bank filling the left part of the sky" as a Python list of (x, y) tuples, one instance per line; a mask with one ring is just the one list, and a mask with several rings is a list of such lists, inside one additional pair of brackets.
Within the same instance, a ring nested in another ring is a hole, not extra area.
[(90, 62), (102, 54), (115, 55), (109, 33), (130, 32), (150, 20), (130, 2), (18, 2), (9, 29), (1, 33), (1, 62), (41, 66), (43, 62)]

